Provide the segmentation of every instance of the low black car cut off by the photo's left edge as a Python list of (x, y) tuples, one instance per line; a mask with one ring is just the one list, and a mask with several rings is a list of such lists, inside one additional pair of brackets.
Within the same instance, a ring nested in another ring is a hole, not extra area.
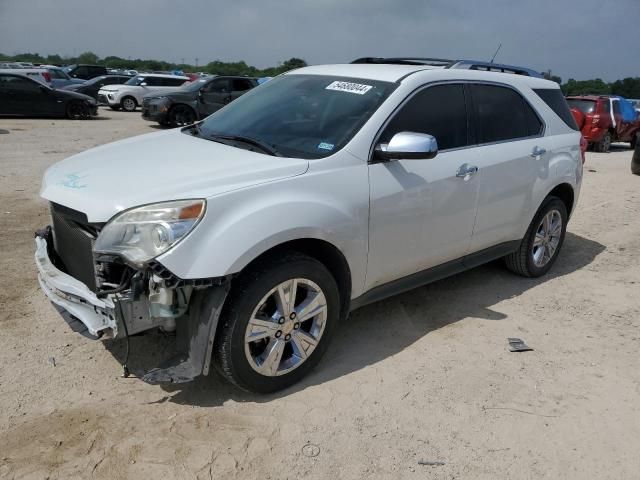
[(55, 90), (19, 73), (0, 73), (0, 115), (89, 118), (98, 114), (94, 98)]

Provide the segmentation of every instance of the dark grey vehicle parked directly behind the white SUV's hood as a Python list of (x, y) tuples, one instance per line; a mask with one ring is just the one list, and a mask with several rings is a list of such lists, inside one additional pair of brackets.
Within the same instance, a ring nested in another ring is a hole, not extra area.
[(178, 91), (150, 93), (142, 99), (142, 118), (161, 125), (190, 125), (258, 86), (255, 78), (207, 77)]

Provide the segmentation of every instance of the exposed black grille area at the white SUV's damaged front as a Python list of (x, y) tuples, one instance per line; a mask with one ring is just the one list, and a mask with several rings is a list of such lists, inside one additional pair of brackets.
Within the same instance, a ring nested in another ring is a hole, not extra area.
[(64, 270), (91, 290), (96, 290), (93, 244), (99, 227), (87, 216), (70, 208), (51, 203), (53, 246), (64, 264)]

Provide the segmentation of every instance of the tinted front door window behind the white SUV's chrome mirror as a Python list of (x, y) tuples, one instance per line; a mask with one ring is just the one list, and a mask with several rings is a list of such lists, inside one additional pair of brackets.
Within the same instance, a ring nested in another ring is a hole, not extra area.
[(439, 150), (469, 144), (467, 109), (462, 85), (436, 85), (416, 93), (391, 119), (380, 141), (389, 143), (399, 132), (433, 135)]

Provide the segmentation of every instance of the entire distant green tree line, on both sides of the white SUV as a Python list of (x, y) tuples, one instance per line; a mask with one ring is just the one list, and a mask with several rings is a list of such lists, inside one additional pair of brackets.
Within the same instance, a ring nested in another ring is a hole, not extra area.
[[(182, 70), (185, 72), (207, 72), (216, 75), (247, 75), (250, 77), (274, 77), (283, 72), (300, 68), (307, 65), (301, 58), (290, 58), (281, 64), (268, 67), (256, 68), (247, 65), (244, 61), (222, 62), (215, 60), (206, 65), (191, 65), (188, 63), (171, 63), (163, 60), (142, 60), (139, 58), (121, 58), (108, 56), (99, 58), (93, 52), (84, 52), (77, 57), (62, 57), (60, 55), (42, 56), (37, 53), (21, 53), (19, 55), (3, 55), (0, 53), (0, 62), (31, 62), (51, 65), (71, 65), (74, 63), (88, 63), (92, 65), (104, 65), (107, 68), (120, 68), (126, 70), (139, 71), (172, 71)], [(626, 98), (640, 98), (640, 77), (628, 77), (615, 82), (605, 82), (600, 78), (592, 80), (574, 80), (570, 78), (562, 83), (562, 79), (553, 75), (551, 71), (545, 72), (545, 77), (560, 84), (565, 95), (580, 95), (593, 93), (597, 95), (620, 95)]]

